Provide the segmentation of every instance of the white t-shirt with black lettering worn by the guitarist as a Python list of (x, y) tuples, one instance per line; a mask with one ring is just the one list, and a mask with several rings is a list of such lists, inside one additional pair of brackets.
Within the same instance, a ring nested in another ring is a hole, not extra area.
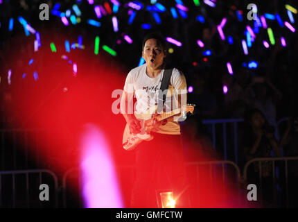
[[(148, 108), (157, 105), (158, 92), (161, 87), (161, 80), (164, 76), (164, 69), (156, 78), (150, 78), (146, 74), (147, 65), (141, 65), (132, 69), (125, 80), (124, 90), (125, 92), (134, 92), (137, 98), (137, 104), (135, 105), (135, 112), (146, 112)], [(172, 76), (170, 77), (170, 84), (168, 87), (168, 93), (166, 95), (166, 106), (171, 103), (171, 96), (173, 93), (186, 94), (187, 85), (184, 74), (178, 69), (173, 69)], [(173, 121), (173, 118), (167, 119), (165, 125), (160, 125), (158, 128), (153, 128), (153, 132), (161, 134), (179, 135), (180, 126), (177, 121)]]

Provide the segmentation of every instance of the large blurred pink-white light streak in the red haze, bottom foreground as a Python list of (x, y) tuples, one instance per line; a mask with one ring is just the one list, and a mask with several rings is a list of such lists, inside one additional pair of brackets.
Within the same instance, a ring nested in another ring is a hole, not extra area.
[(82, 196), (87, 208), (122, 208), (123, 200), (105, 135), (86, 124), (80, 140)]

